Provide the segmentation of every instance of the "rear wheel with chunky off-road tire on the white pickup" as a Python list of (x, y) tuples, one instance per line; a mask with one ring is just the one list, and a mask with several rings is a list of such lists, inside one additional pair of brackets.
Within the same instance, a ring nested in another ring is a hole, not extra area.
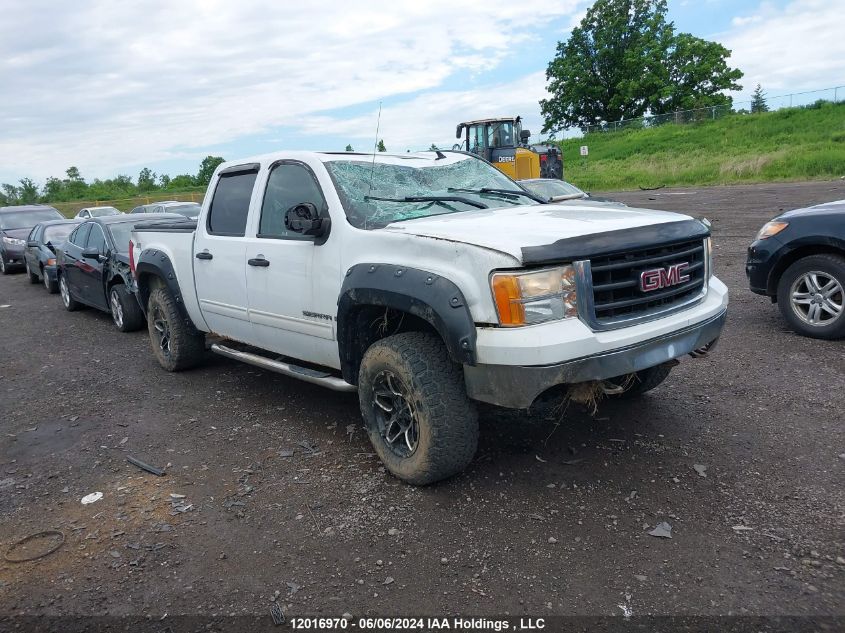
[[(167, 328), (168, 342), (162, 342), (158, 328)], [(165, 286), (150, 292), (147, 302), (147, 330), (156, 360), (167, 371), (182, 371), (199, 365), (205, 356), (205, 336), (182, 317), (176, 300)]]

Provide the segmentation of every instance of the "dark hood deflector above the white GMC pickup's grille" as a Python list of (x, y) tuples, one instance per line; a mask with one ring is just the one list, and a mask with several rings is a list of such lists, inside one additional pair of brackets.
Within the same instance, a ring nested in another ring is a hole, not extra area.
[(522, 263), (529, 266), (572, 262), (596, 255), (625, 253), (648, 247), (650, 244), (662, 246), (696, 238), (704, 239), (709, 235), (710, 230), (698, 220), (650, 224), (620, 231), (568, 237), (542, 246), (523, 246)]

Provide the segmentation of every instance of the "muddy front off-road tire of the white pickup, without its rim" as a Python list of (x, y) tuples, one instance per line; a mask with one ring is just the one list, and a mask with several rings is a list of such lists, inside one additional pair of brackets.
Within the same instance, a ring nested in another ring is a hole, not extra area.
[[(374, 383), (389, 372), (407, 388), (417, 422), (416, 449), (398, 455), (380, 429)], [(472, 461), (478, 446), (478, 413), (467, 397), (460, 365), (443, 342), (424, 332), (383, 338), (366, 351), (358, 374), (358, 399), (370, 441), (387, 470), (424, 486), (451, 477)]]

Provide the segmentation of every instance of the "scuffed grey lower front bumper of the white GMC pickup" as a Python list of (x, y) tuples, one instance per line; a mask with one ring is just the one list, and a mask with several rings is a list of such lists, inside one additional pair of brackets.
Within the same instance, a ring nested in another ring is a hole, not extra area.
[(681, 330), (628, 347), (557, 365), (464, 366), (470, 398), (503, 407), (526, 409), (541, 393), (562, 384), (605, 380), (655, 367), (702, 348), (712, 348), (725, 325), (727, 309)]

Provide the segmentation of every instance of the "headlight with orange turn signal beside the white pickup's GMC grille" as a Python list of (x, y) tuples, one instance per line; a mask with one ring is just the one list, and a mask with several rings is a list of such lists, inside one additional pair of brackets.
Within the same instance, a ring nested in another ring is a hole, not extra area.
[(533, 325), (578, 316), (572, 266), (530, 273), (495, 273), (490, 285), (501, 325)]

